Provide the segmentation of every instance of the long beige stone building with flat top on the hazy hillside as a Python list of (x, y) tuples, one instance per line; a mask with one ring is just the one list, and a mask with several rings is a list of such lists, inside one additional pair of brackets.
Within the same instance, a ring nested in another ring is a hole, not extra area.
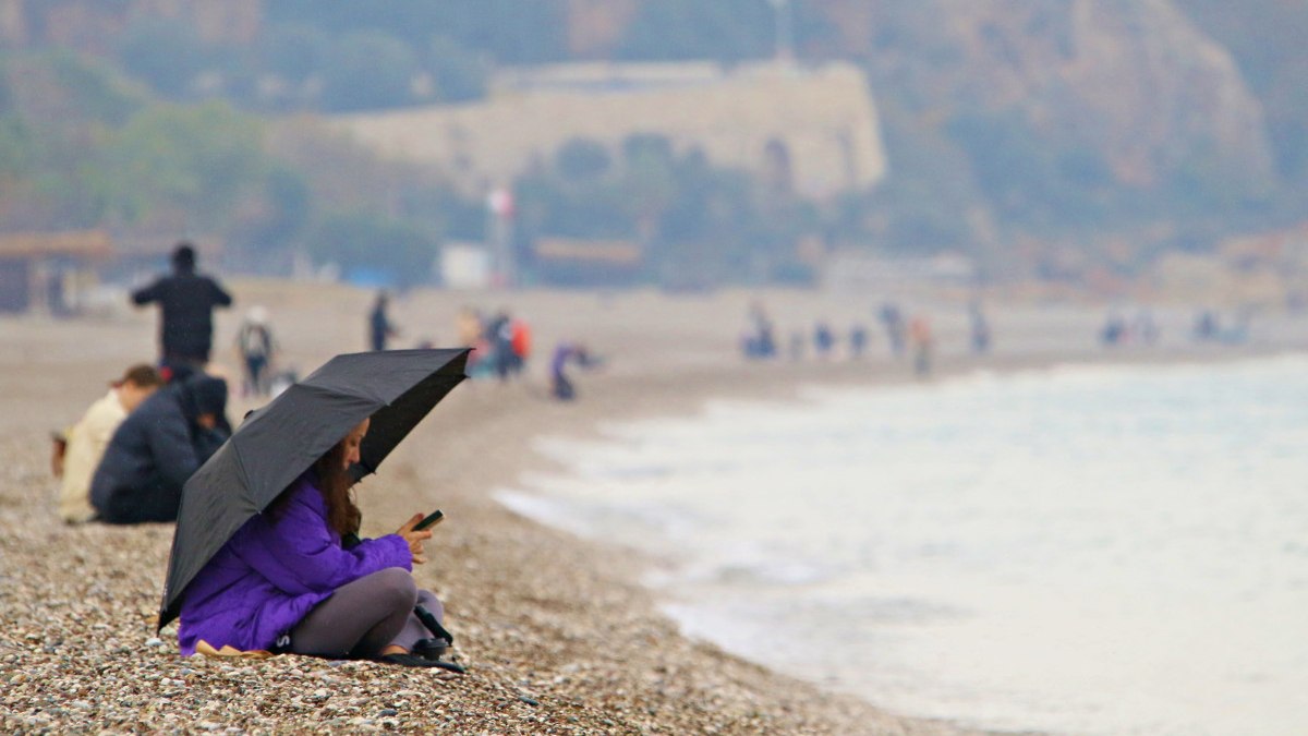
[(886, 149), (858, 67), (714, 63), (562, 64), (498, 75), (484, 102), (343, 115), (364, 144), (426, 161), (484, 193), (569, 140), (617, 151), (632, 135), (662, 135), (721, 166), (774, 175), (793, 191), (828, 198), (886, 177)]

